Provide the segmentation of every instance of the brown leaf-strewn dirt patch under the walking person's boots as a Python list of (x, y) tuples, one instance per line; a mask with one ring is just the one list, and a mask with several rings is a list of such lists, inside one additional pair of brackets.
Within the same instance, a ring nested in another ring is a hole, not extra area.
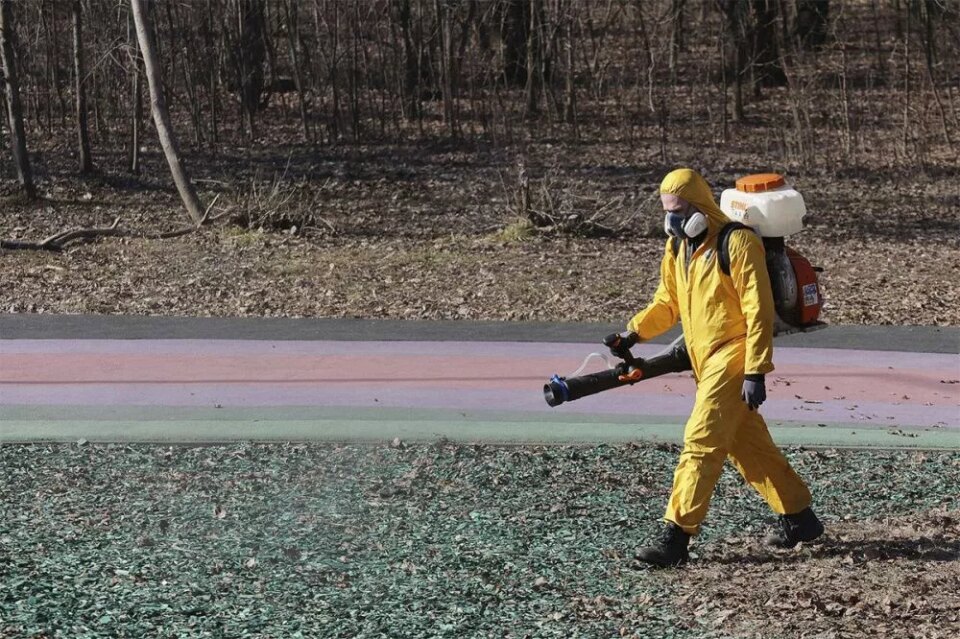
[(736, 637), (947, 639), (960, 631), (960, 513), (842, 522), (783, 552), (730, 537), (674, 580), (686, 612)]

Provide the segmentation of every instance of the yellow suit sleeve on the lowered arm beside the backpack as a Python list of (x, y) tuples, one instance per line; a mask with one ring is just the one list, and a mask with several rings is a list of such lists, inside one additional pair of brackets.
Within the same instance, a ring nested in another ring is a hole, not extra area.
[(773, 370), (773, 321), (776, 311), (763, 242), (755, 233), (730, 234), (730, 278), (740, 297), (740, 310), (747, 322), (747, 352), (744, 373), (766, 374)]

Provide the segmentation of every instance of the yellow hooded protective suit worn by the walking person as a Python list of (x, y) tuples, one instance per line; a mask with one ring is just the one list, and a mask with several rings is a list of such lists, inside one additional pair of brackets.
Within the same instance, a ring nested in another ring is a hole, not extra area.
[(699, 532), (726, 457), (774, 512), (800, 512), (810, 505), (810, 491), (773, 443), (763, 417), (741, 398), (745, 374), (773, 370), (775, 311), (763, 243), (754, 233), (732, 233), (727, 276), (717, 258), (717, 233), (730, 220), (706, 181), (677, 169), (660, 192), (693, 204), (709, 227), (689, 256), (686, 240), (676, 257), (667, 241), (653, 301), (627, 325), (644, 340), (679, 319), (697, 382), (664, 518), (689, 534)]

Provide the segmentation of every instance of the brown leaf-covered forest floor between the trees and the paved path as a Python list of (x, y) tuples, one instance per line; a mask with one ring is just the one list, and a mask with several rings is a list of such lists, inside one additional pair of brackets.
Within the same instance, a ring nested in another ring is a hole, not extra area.
[[(40, 202), (7, 198), (0, 237), (39, 240), (117, 217), (136, 233), (188, 221), (156, 153), (145, 162), (153, 177), (136, 180), (109, 169), (79, 178), (54, 157), (39, 175)], [(195, 155), (202, 196), (216, 197), (211, 213), (223, 215), (212, 226), (175, 239), (106, 237), (59, 254), (0, 252), (0, 310), (626, 321), (656, 284), (664, 236), (655, 189), (673, 166), (691, 165), (718, 196), (741, 175), (786, 173), (808, 206), (806, 229), (788, 243), (824, 269), (827, 322), (960, 324), (953, 169), (790, 171), (756, 154), (680, 145), (669, 165), (650, 157), (642, 145), (612, 142)], [(521, 158), (532, 206), (570, 220), (572, 231), (517, 223)]]

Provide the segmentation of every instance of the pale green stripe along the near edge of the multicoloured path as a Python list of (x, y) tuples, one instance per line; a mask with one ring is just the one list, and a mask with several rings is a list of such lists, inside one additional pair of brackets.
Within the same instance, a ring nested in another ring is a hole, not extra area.
[[(770, 422), (783, 446), (960, 449), (946, 429), (865, 428), (863, 424)], [(193, 407), (0, 407), (0, 442), (625, 443), (682, 441), (683, 422), (656, 415), (545, 415), (442, 409)]]

